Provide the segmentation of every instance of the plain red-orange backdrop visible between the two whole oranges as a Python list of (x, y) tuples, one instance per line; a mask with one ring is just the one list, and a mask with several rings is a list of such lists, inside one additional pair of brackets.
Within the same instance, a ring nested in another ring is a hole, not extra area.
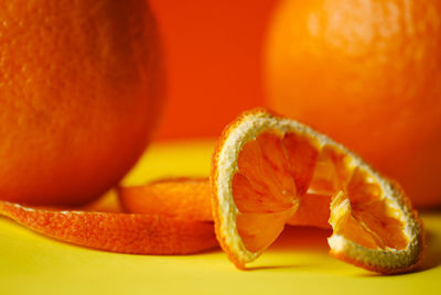
[(168, 72), (157, 139), (217, 136), (263, 103), (262, 45), (276, 2), (150, 0)]

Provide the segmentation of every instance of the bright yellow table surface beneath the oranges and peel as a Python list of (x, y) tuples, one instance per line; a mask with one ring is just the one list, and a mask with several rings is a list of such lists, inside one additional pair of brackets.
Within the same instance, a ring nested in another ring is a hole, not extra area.
[[(212, 150), (212, 141), (153, 144), (125, 184), (207, 176)], [(421, 215), (424, 263), (394, 276), (331, 258), (325, 230), (287, 228), (248, 271), (239, 271), (220, 250), (118, 254), (55, 241), (0, 218), (0, 294), (441, 294), (441, 211)]]

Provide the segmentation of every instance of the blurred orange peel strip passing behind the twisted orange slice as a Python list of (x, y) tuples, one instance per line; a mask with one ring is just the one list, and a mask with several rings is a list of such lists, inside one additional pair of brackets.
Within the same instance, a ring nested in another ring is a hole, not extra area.
[[(208, 178), (166, 178), (118, 188), (122, 208), (131, 214), (159, 214), (186, 220), (213, 221)], [(330, 197), (305, 195), (287, 223), (331, 228)]]

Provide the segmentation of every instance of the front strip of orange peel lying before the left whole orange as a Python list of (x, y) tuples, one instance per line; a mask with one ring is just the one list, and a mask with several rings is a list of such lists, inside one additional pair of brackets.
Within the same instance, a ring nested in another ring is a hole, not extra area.
[(161, 215), (55, 210), (0, 201), (0, 215), (51, 238), (133, 254), (189, 254), (218, 245), (213, 223)]

